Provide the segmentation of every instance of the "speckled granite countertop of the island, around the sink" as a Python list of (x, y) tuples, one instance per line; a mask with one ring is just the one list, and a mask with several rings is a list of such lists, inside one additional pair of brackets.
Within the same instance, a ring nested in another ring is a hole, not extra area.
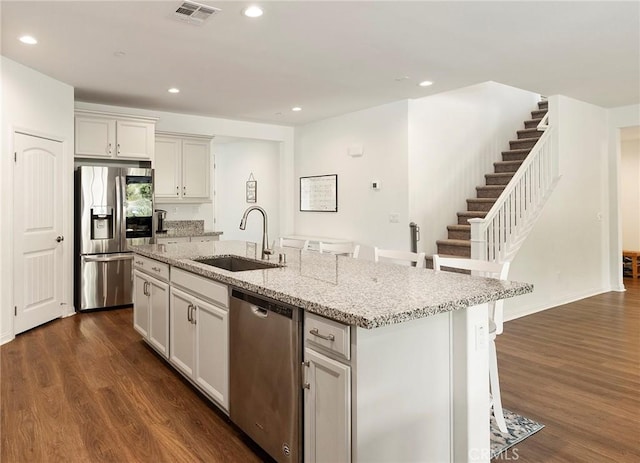
[(301, 307), (341, 323), (377, 328), (450, 312), (533, 291), (533, 285), (453, 272), (375, 263), (298, 249), (286, 254), (286, 266), (229, 272), (193, 261), (215, 255), (255, 258), (260, 245), (214, 241), (135, 246), (133, 251), (221, 283)]

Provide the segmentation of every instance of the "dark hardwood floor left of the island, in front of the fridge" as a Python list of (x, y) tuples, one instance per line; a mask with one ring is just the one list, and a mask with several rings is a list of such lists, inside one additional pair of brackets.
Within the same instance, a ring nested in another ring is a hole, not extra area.
[(2, 463), (268, 459), (141, 341), (131, 309), (55, 320), (1, 355)]

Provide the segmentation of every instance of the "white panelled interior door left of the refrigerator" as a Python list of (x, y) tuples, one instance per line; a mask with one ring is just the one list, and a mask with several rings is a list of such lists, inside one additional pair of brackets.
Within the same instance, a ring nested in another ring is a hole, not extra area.
[(62, 315), (62, 143), (15, 134), (14, 334)]

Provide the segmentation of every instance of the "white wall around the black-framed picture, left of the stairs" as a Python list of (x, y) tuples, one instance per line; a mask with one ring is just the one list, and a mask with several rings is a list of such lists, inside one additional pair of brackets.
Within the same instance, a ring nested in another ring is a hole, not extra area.
[[(296, 234), (356, 241), (364, 258), (371, 246), (409, 249), (407, 109), (398, 101), (296, 128)], [(354, 144), (363, 156), (347, 154)], [(338, 212), (300, 212), (299, 178), (324, 174), (338, 174)]]

